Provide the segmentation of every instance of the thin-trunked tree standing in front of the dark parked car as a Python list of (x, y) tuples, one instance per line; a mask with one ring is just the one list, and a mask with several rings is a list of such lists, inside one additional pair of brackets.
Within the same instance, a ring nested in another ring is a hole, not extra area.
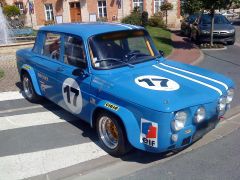
[(226, 9), (232, 3), (232, 0), (201, 0), (202, 9), (208, 10), (211, 16), (211, 46), (213, 46), (214, 15), (217, 9)]

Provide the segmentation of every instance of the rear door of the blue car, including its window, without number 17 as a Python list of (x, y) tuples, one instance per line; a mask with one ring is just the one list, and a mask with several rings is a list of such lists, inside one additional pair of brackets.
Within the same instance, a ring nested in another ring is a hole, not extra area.
[(43, 44), (37, 55), (36, 76), (42, 94), (51, 101), (58, 103), (59, 91), (58, 73), (62, 70), (62, 35), (58, 33), (42, 32)]

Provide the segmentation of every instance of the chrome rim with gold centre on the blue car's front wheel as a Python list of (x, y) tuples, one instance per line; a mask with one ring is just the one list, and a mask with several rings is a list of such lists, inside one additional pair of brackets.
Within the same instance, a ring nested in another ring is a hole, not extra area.
[(110, 149), (114, 149), (118, 145), (118, 131), (113, 121), (103, 116), (99, 120), (99, 133), (103, 143)]

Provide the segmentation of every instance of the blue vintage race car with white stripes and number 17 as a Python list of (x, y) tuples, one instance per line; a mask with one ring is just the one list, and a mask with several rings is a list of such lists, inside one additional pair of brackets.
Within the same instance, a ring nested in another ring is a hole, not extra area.
[(139, 26), (46, 26), (32, 49), (17, 52), (23, 93), (45, 97), (96, 128), (102, 147), (181, 149), (215, 128), (234, 83), (223, 75), (166, 60)]

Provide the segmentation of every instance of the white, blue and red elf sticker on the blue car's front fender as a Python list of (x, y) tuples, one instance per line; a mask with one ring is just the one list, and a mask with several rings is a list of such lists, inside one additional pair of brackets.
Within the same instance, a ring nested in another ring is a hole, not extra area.
[(141, 119), (140, 142), (151, 147), (158, 147), (158, 123)]

